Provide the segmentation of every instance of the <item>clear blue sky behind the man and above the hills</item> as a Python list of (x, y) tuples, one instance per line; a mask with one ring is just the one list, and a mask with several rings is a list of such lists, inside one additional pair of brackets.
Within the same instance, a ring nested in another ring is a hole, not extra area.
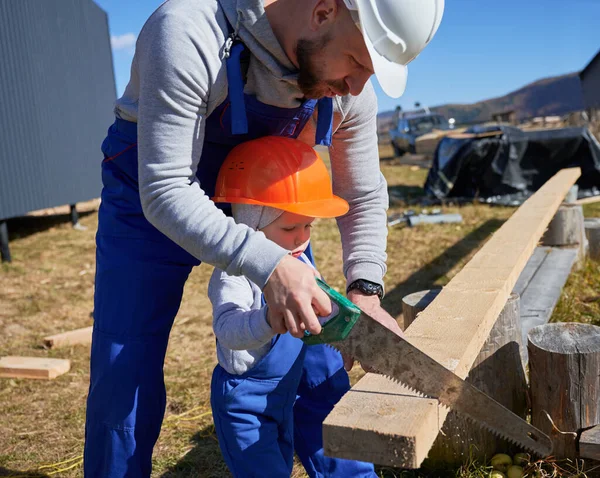
[[(135, 39), (162, 0), (95, 1), (109, 16), (120, 95)], [(600, 0), (446, 0), (437, 35), (409, 66), (404, 96), (388, 98), (375, 85), (379, 110), (472, 103), (581, 70), (600, 49), (598, 19)]]

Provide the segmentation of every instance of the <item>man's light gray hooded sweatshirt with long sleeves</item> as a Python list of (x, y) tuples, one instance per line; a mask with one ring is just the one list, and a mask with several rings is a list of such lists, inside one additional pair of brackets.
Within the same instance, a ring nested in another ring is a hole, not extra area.
[[(227, 218), (196, 178), (205, 119), (227, 96), (226, 19), (251, 52), (246, 93), (273, 106), (300, 105), (297, 72), (271, 30), (263, 0), (167, 0), (140, 32), (115, 113), (138, 124), (146, 218), (201, 261), (245, 275), (262, 289), (287, 251)], [(334, 100), (330, 157), (334, 193), (350, 204), (337, 220), (348, 283), (360, 278), (383, 284), (386, 271), (388, 197), (376, 114), (370, 83), (356, 97)], [(299, 139), (314, 145), (315, 130), (313, 117)]]

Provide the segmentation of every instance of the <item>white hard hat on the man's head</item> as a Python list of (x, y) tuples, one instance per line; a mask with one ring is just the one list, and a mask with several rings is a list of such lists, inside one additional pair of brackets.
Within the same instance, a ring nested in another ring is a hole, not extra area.
[[(379, 84), (398, 98), (408, 69), (431, 41), (444, 13), (444, 0), (344, 0), (363, 33)], [(358, 12), (358, 19), (356, 18)]]

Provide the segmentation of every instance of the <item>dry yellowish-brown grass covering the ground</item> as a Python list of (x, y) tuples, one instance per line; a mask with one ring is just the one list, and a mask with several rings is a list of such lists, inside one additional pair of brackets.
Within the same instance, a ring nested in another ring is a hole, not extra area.
[[(426, 170), (382, 162), (391, 190), (422, 194)], [(394, 227), (388, 237), (385, 307), (401, 311), (404, 295), (446, 284), (513, 212), (480, 204), (444, 207), (460, 212), (462, 224), (414, 229)], [(401, 202), (390, 213), (404, 210)], [(597, 209), (592, 212), (600, 212)], [(83, 214), (85, 231), (71, 228), (67, 214), (9, 221), (13, 262), (0, 266), (0, 355), (68, 358), (71, 371), (56, 380), (0, 379), (0, 476), (82, 475), (88, 347), (46, 350), (45, 335), (91, 325), (94, 287), (95, 208)], [(343, 288), (342, 253), (335, 223), (317, 221), (315, 254), (321, 273)], [(196, 268), (185, 288), (165, 362), (166, 418), (154, 453), (153, 476), (229, 476), (214, 434), (209, 404), (216, 363), (211, 310), (206, 297), (211, 268)], [(574, 273), (557, 307), (558, 319), (598, 323), (600, 274), (589, 264)], [(362, 372), (352, 372), (356, 381)], [(470, 468), (469, 468), (470, 467)], [(425, 472), (381, 469), (385, 477), (427, 476)], [(441, 476), (430, 472), (428, 476)], [(487, 476), (485, 467), (467, 464), (453, 476)], [(479, 474), (478, 474), (479, 473)], [(305, 476), (296, 466), (294, 477)], [(567, 475), (565, 475), (567, 476)]]

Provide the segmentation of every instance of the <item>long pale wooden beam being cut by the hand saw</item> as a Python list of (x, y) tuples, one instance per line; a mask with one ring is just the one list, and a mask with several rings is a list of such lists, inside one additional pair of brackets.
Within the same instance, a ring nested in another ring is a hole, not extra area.
[[(539, 239), (580, 174), (579, 168), (559, 171), (517, 209), (408, 327), (407, 340), (465, 378)], [(444, 407), (426, 403), (431, 399), (417, 398), (393, 381), (367, 374), (325, 420), (325, 453), (418, 468), (448, 413)], [(367, 409), (378, 412), (363, 413)], [(377, 442), (386, 446), (379, 451), (368, 446)]]

